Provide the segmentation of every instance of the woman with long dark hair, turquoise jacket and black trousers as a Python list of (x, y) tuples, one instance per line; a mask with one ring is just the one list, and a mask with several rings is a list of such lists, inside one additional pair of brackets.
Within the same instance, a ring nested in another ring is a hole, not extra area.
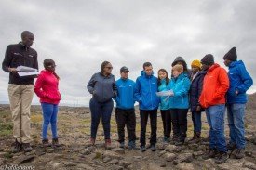
[[(160, 69), (158, 71), (158, 91), (168, 91), (169, 89), (169, 78), (168, 72), (165, 69)], [(169, 141), (171, 132), (171, 116), (169, 109), (168, 97), (160, 97), (160, 112), (164, 127), (164, 142)]]

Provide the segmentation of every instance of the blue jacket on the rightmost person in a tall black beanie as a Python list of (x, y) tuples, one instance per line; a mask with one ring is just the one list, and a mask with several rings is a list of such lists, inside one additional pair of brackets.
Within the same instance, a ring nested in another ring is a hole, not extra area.
[[(246, 91), (253, 84), (253, 81), (243, 61), (239, 60), (230, 63), (228, 78), (230, 86), (227, 92), (227, 103), (246, 103), (248, 100)], [(238, 91), (237, 95), (236, 90)]]

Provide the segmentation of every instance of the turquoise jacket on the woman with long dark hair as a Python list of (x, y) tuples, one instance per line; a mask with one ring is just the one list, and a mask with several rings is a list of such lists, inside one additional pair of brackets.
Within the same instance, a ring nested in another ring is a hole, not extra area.
[[(158, 86), (158, 91), (168, 91), (170, 90), (170, 83), (167, 85), (166, 79), (160, 81), (160, 85)], [(160, 110), (168, 110), (169, 109), (169, 98), (168, 97), (160, 97)]]

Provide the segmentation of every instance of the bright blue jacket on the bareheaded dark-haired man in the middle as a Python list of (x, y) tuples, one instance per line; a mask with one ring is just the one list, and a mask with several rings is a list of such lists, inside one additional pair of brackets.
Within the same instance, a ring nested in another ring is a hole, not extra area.
[(135, 85), (135, 98), (139, 102), (140, 110), (157, 110), (160, 98), (156, 96), (157, 78), (147, 75), (141, 71), (141, 76), (137, 78)]

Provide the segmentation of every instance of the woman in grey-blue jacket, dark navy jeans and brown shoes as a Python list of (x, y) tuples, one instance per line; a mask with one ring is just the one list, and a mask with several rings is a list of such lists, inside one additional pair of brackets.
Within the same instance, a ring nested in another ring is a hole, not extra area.
[(102, 117), (106, 148), (111, 147), (110, 119), (114, 106), (112, 98), (115, 98), (117, 94), (115, 77), (111, 73), (112, 69), (113, 67), (110, 62), (102, 62), (101, 72), (93, 74), (88, 82), (88, 91), (92, 94), (92, 98), (89, 101), (89, 109), (91, 112), (90, 142), (94, 145)]

